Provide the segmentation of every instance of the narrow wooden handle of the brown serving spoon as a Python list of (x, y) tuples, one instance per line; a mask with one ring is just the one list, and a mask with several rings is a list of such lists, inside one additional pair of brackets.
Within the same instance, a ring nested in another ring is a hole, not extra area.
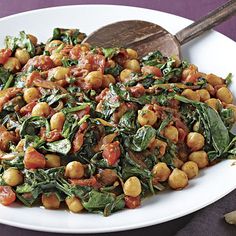
[(176, 33), (175, 37), (179, 41), (180, 45), (183, 45), (235, 14), (236, 0), (228, 1), (219, 8), (210, 12), (208, 15), (202, 17), (200, 20), (180, 30)]

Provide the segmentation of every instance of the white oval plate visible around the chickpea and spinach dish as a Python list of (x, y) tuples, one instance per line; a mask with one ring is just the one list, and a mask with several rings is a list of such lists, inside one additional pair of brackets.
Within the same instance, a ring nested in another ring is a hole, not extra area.
[[(141, 8), (109, 5), (81, 5), (48, 8), (0, 19), (0, 42), (5, 35), (17, 35), (20, 30), (45, 41), (54, 27), (79, 27), (90, 33), (111, 22), (141, 19), (158, 23), (171, 33), (191, 21), (174, 15)], [(2, 46), (2, 45), (0, 45)], [(234, 41), (211, 31), (182, 48), (183, 56), (196, 63), (201, 71), (225, 77), (236, 75)], [(236, 82), (233, 83), (236, 94)], [(0, 222), (17, 227), (65, 233), (98, 233), (134, 229), (169, 221), (222, 198), (236, 187), (236, 166), (223, 161), (201, 171), (182, 191), (166, 191), (146, 199), (135, 210), (123, 210), (109, 217), (96, 214), (72, 214), (67, 211), (27, 208), (19, 205), (0, 206)]]

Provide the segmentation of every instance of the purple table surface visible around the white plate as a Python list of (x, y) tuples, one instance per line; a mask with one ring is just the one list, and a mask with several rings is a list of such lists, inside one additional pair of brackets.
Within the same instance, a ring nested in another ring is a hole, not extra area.
[[(210, 10), (226, 2), (225, 0), (0, 0), (0, 17), (11, 14), (62, 5), (76, 4), (116, 4), (145, 7), (149, 9), (164, 11), (175, 15), (183, 16), (192, 20), (196, 20), (206, 15)], [(236, 17), (232, 17), (225, 23), (216, 27), (216, 30), (236, 41)], [(222, 200), (212, 204), (203, 210), (182, 217), (180, 219), (170, 221), (168, 223), (147, 227), (138, 230), (126, 231), (122, 233), (100, 234), (101, 236), (123, 235), (123, 236), (139, 236), (139, 235), (163, 235), (172, 236), (233, 236), (236, 235), (236, 227), (227, 225), (222, 215), (228, 211), (236, 209), (236, 190), (223, 198)], [(18, 229), (0, 224), (1, 236), (54, 236), (56, 234), (34, 232)], [(64, 236), (66, 234), (63, 234)], [(89, 236), (89, 235), (88, 235)]]

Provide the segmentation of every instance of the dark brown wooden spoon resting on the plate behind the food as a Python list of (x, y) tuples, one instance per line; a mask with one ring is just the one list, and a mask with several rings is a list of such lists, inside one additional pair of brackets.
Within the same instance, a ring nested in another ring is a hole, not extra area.
[(180, 46), (198, 37), (205, 31), (227, 20), (236, 13), (236, 0), (231, 0), (210, 12), (195, 23), (172, 35), (166, 29), (141, 20), (120, 21), (106, 25), (84, 42), (99, 47), (129, 47), (136, 49), (140, 57), (153, 51), (165, 56), (181, 57)]

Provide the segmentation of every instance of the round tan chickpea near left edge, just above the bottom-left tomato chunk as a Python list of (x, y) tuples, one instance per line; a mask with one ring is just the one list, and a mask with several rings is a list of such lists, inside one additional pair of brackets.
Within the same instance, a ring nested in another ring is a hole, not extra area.
[(7, 185), (12, 187), (23, 183), (23, 174), (13, 167), (10, 167), (3, 172), (2, 178)]

